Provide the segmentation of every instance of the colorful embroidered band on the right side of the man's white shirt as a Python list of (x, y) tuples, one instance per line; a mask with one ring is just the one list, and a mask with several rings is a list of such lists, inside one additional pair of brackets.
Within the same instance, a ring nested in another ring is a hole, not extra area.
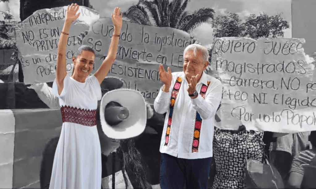
[[(206, 91), (207, 91), (207, 88), (209, 87), (209, 85), (210, 85), (210, 81), (207, 82), (207, 86), (205, 84), (202, 85), (200, 95), (203, 97), (203, 99), (205, 99), (205, 94), (206, 94)], [(195, 118), (195, 126), (194, 126), (192, 153), (198, 152), (201, 125), (202, 125), (202, 119), (201, 119), (200, 114), (197, 112), (197, 115)]]

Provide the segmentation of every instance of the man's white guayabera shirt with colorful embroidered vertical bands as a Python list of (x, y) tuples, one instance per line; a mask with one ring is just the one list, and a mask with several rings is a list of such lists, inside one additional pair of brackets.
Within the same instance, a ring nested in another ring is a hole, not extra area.
[[(160, 152), (185, 159), (212, 157), (214, 120), (222, 100), (222, 83), (203, 73), (196, 86), (199, 95), (195, 99), (189, 97), (187, 87), (185, 73), (174, 72), (169, 92), (161, 88), (155, 99), (155, 111), (167, 112)], [(202, 95), (201, 91), (204, 91)]]

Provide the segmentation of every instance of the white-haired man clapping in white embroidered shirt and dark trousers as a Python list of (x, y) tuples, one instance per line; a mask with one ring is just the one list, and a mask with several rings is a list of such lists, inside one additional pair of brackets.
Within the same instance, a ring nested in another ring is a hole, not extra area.
[(191, 44), (184, 50), (183, 72), (168, 72), (159, 66), (164, 85), (154, 108), (166, 113), (161, 137), (162, 189), (208, 187), (214, 120), (222, 100), (222, 83), (204, 73), (209, 64), (208, 50)]

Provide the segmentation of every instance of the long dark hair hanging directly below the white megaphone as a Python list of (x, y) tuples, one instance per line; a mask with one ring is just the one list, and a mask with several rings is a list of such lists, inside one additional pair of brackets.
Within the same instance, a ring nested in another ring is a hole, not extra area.
[[(144, 188), (151, 189), (152, 186), (149, 184), (146, 178), (146, 171), (143, 165), (142, 155), (135, 147), (134, 139), (125, 139), (120, 141), (120, 147), (117, 149), (119, 158), (122, 158), (121, 168), (126, 170), (128, 178), (131, 181), (133, 188)], [(128, 182), (123, 172), (125, 186), (127, 188)]]

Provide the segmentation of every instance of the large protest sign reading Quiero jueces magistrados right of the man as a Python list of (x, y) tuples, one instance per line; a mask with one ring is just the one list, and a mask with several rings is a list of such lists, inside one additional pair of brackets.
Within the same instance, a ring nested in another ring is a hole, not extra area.
[[(222, 81), (217, 126), (294, 133), (316, 130), (314, 65), (304, 39), (223, 37), (214, 40), (211, 68)], [(314, 113), (315, 112), (315, 113)]]

